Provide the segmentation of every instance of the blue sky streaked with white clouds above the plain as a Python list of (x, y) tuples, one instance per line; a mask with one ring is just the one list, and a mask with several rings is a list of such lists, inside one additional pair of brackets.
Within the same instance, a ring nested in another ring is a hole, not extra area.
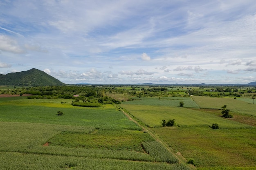
[(0, 74), (67, 84), (256, 81), (255, 0), (0, 0)]

